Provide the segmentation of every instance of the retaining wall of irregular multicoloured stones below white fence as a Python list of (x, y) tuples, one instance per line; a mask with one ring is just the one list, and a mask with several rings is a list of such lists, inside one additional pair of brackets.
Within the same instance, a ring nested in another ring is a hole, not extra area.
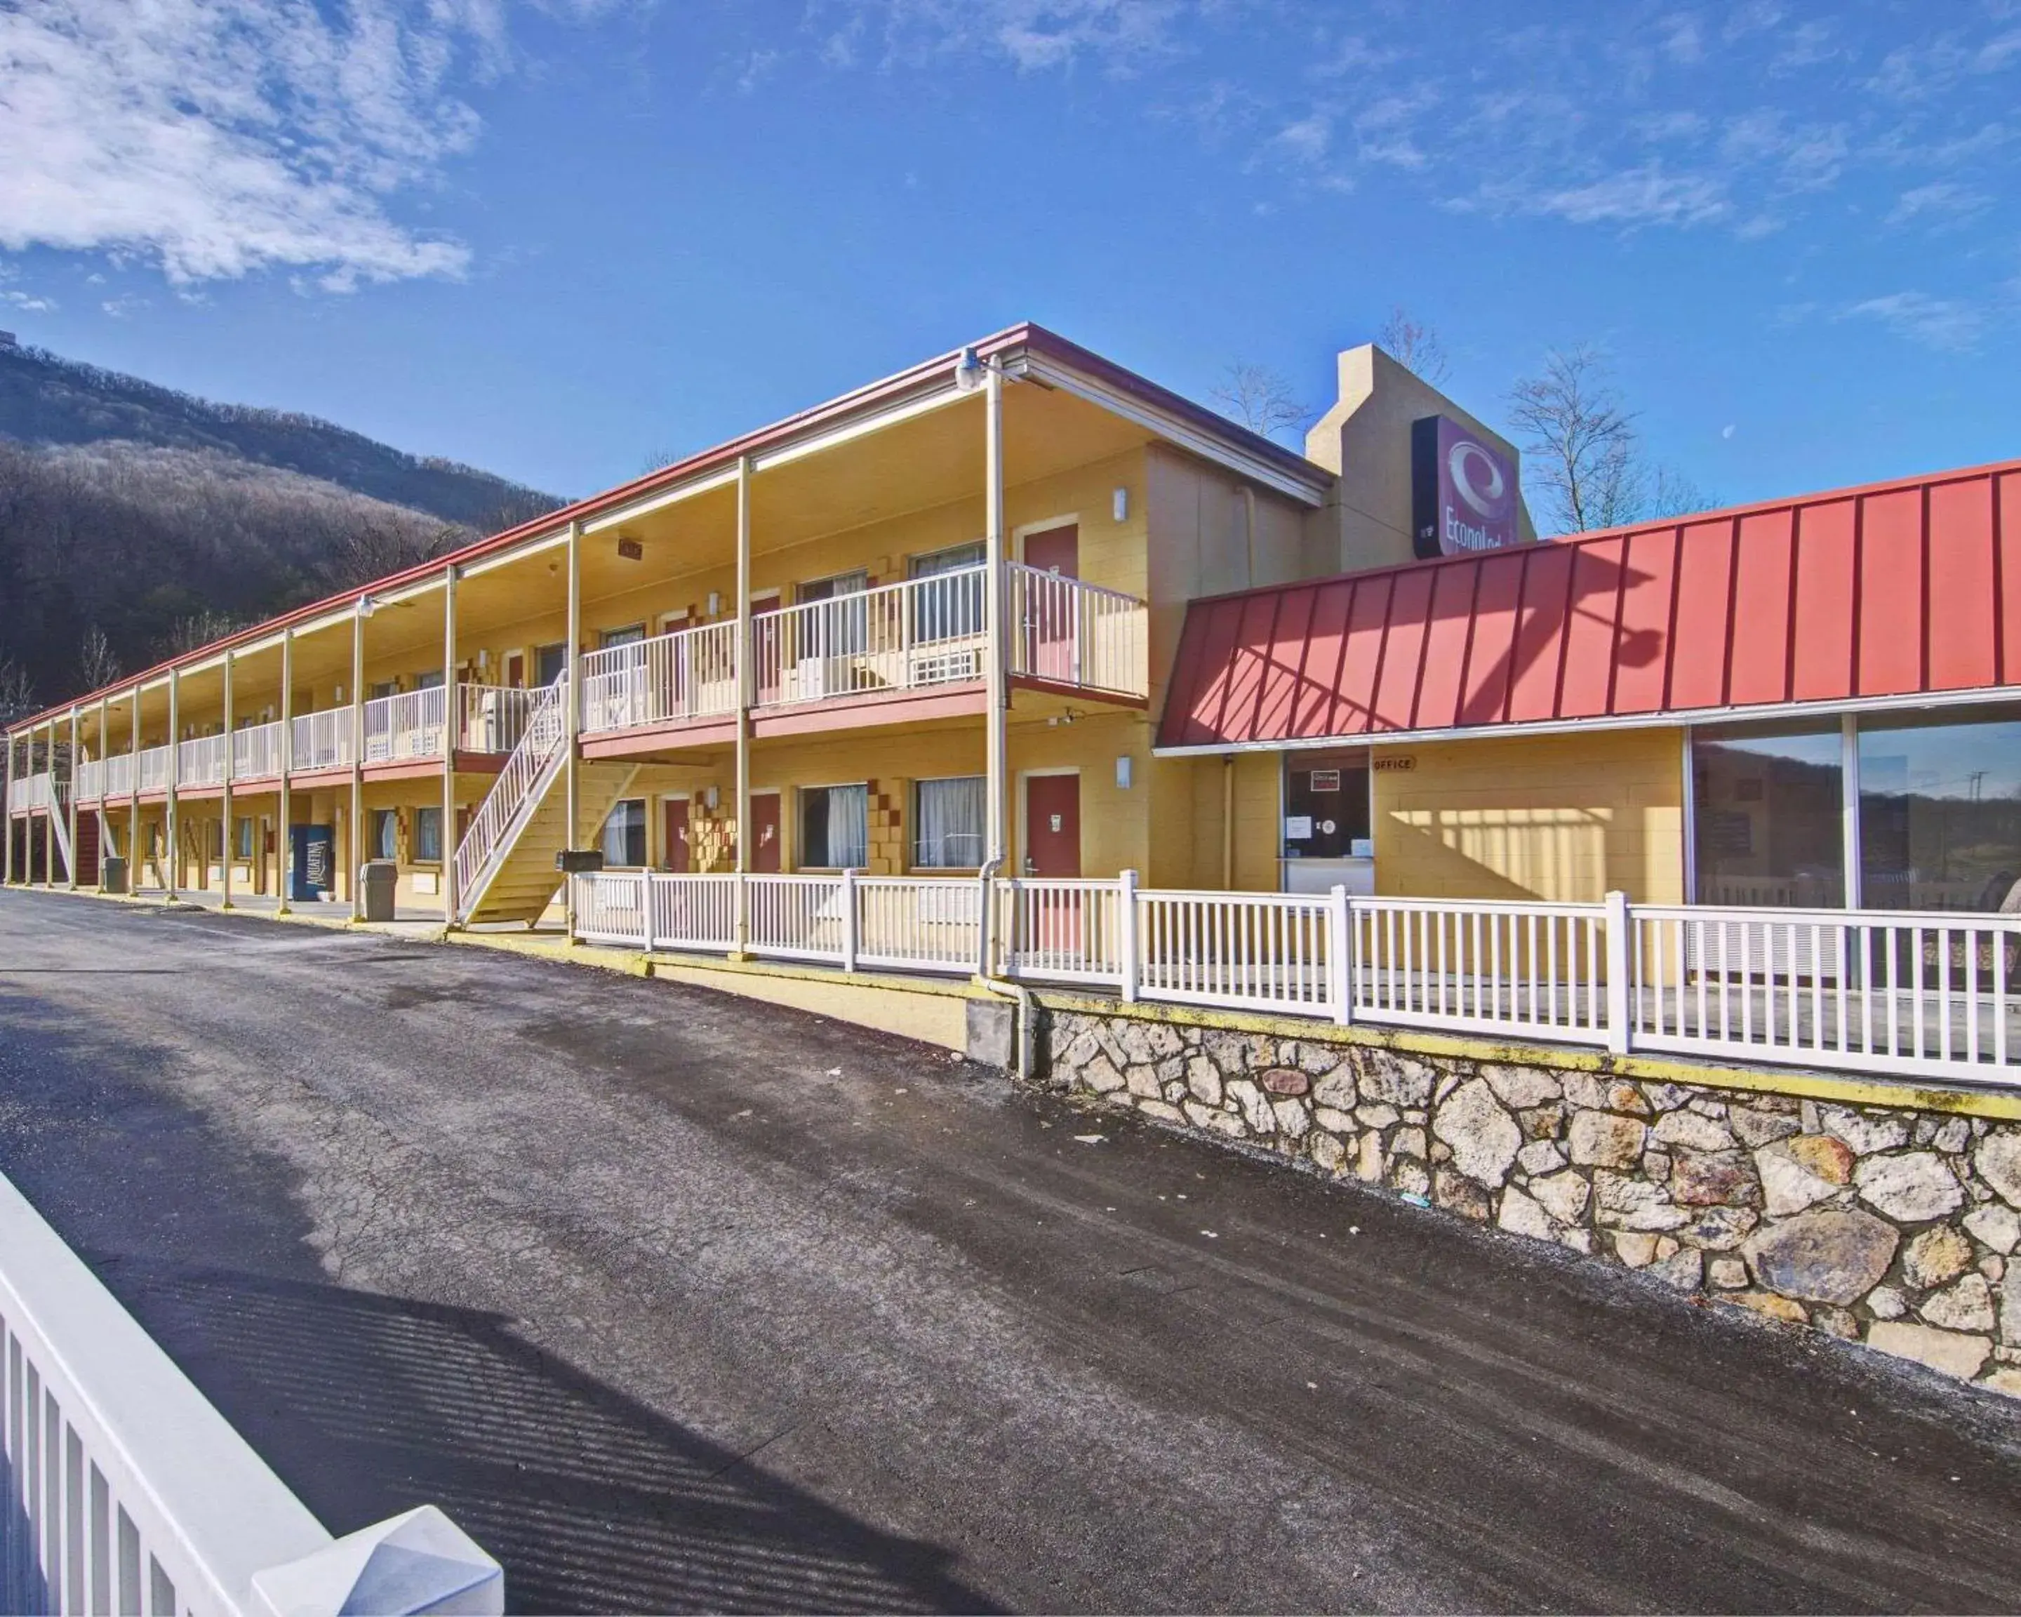
[(1043, 1015), (1049, 1087), (2021, 1395), (2021, 1124)]

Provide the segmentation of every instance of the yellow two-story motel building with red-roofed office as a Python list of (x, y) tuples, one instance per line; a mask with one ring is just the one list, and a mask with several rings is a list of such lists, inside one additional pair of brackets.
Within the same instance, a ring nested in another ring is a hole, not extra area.
[(1417, 560), (1431, 416), (1514, 481), (1370, 348), (1297, 455), (1013, 327), (16, 724), (8, 877), (2015, 908), (2021, 467)]

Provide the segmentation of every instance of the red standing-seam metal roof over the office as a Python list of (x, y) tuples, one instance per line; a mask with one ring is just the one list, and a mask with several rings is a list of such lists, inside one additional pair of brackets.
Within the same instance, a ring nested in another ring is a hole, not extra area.
[(1160, 748), (2021, 683), (2021, 461), (1194, 600)]

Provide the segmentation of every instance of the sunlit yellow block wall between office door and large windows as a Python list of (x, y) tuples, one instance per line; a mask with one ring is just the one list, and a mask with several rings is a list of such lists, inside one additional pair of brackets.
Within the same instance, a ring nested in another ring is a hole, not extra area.
[(1681, 903), (1681, 746), (1675, 730), (1595, 730), (1376, 748), (1376, 889)]

